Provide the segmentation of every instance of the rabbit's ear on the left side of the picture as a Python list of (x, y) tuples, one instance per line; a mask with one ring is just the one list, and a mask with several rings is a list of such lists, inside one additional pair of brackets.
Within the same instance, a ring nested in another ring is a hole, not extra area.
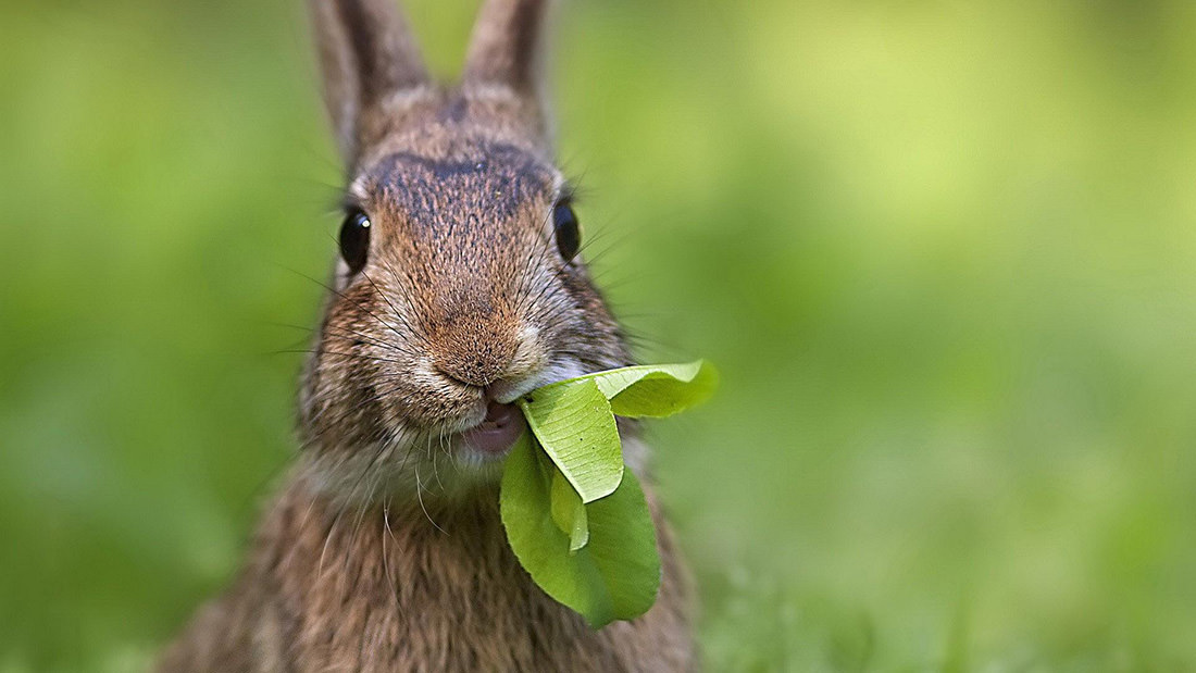
[(428, 84), (419, 47), (395, 0), (309, 0), (324, 105), (347, 165), (382, 123), (388, 98)]

